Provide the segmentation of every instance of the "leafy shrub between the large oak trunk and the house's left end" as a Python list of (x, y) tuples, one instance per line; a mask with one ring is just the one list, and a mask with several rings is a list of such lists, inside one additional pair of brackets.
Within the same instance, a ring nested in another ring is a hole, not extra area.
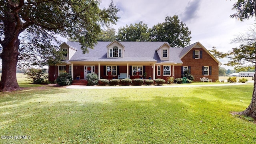
[(27, 75), (28, 81), (33, 84), (43, 84), (48, 78), (46, 69), (44, 68), (28, 68), (28, 71), (24, 74)]

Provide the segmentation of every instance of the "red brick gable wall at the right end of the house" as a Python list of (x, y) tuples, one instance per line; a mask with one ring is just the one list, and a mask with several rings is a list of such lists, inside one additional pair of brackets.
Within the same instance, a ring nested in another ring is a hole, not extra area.
[[(202, 59), (193, 59), (193, 50), (202, 50)], [(216, 62), (208, 53), (206, 53), (202, 48), (193, 48), (184, 56), (182, 59), (182, 66), (191, 66), (191, 74), (194, 76), (194, 81), (200, 81), (200, 78), (207, 77), (212, 79), (212, 82), (218, 80), (219, 78), (219, 67), (218, 62)], [(202, 66), (212, 66), (212, 75), (204, 76), (202, 75)], [(177, 73), (181, 76), (180, 73)]]

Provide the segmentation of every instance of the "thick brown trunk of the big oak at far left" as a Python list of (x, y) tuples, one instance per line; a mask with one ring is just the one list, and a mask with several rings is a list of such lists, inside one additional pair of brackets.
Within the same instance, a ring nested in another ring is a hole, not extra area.
[(2, 44), (3, 51), (0, 54), (0, 57), (2, 58), (0, 91), (9, 91), (20, 88), (16, 78), (19, 45), (20, 41), (18, 40), (18, 36), (13, 38), (8, 44)]

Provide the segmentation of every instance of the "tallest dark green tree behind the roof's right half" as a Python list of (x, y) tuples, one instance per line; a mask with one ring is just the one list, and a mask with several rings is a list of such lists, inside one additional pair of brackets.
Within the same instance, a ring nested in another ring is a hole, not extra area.
[(191, 31), (186, 24), (180, 22), (178, 16), (167, 16), (165, 22), (158, 23), (150, 29), (152, 41), (168, 42), (172, 47), (185, 47), (190, 44)]

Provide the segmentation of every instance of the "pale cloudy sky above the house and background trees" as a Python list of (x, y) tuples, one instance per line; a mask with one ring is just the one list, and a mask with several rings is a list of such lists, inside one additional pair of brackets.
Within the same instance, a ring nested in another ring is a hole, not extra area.
[[(237, 0), (113, 0), (120, 9), (116, 25), (118, 28), (126, 24), (134, 24), (140, 21), (148, 24), (148, 27), (164, 22), (166, 16), (178, 15), (179, 19), (191, 30), (191, 42), (200, 42), (210, 50), (216, 46), (218, 51), (227, 52), (239, 44), (230, 44), (235, 35), (248, 31), (254, 18), (240, 22), (236, 18), (230, 18), (236, 11), (232, 10)], [(102, 0), (101, 8), (107, 8), (111, 0)], [(225, 64), (228, 59), (220, 59)], [(226, 69), (231, 67), (223, 66)]]

